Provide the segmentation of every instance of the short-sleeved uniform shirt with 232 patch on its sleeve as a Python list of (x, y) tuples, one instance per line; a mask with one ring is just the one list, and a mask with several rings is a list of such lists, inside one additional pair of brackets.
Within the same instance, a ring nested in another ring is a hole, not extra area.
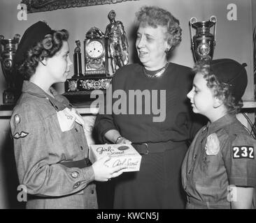
[(256, 141), (227, 114), (199, 130), (182, 166), (187, 208), (231, 208), (236, 188), (256, 185)]

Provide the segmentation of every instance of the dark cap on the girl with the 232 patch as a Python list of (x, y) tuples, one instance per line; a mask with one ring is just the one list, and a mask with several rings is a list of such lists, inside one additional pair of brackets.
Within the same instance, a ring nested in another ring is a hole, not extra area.
[(216, 59), (212, 60), (210, 64), (218, 81), (230, 86), (229, 89), (236, 101), (241, 100), (248, 82), (246, 63), (240, 64), (232, 59)]

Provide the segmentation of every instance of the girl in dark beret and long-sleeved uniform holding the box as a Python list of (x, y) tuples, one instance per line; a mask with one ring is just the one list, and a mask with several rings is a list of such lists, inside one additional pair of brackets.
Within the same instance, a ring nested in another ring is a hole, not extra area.
[(24, 82), (10, 127), (27, 208), (97, 208), (93, 181), (122, 174), (120, 167), (106, 167), (109, 157), (90, 165), (83, 118), (51, 87), (68, 76), (68, 38), (68, 31), (36, 22), (15, 55)]

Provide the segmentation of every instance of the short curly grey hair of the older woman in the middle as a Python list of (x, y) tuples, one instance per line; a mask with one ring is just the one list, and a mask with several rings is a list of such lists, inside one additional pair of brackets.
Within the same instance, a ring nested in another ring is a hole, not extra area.
[(180, 22), (169, 11), (157, 6), (143, 6), (136, 13), (136, 20), (138, 25), (142, 26), (166, 27), (166, 39), (172, 46), (171, 49), (180, 44), (182, 31)]

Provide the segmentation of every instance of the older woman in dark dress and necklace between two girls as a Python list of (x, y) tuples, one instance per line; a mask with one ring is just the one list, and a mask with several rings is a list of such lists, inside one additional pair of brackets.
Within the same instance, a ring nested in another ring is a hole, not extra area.
[[(95, 122), (102, 143), (132, 143), (142, 156), (138, 172), (116, 178), (113, 206), (184, 208), (180, 167), (187, 140), (201, 125), (192, 122), (186, 102), (192, 86), (190, 68), (168, 61), (168, 54), (181, 41), (181, 29), (171, 13), (156, 6), (144, 6), (136, 18), (141, 63), (120, 68), (112, 82), (113, 92), (122, 89), (127, 95), (127, 114), (113, 107), (112, 114), (99, 114)], [(131, 92), (137, 93), (137, 100), (129, 98)], [(121, 100), (116, 95), (112, 99), (113, 103)]]

